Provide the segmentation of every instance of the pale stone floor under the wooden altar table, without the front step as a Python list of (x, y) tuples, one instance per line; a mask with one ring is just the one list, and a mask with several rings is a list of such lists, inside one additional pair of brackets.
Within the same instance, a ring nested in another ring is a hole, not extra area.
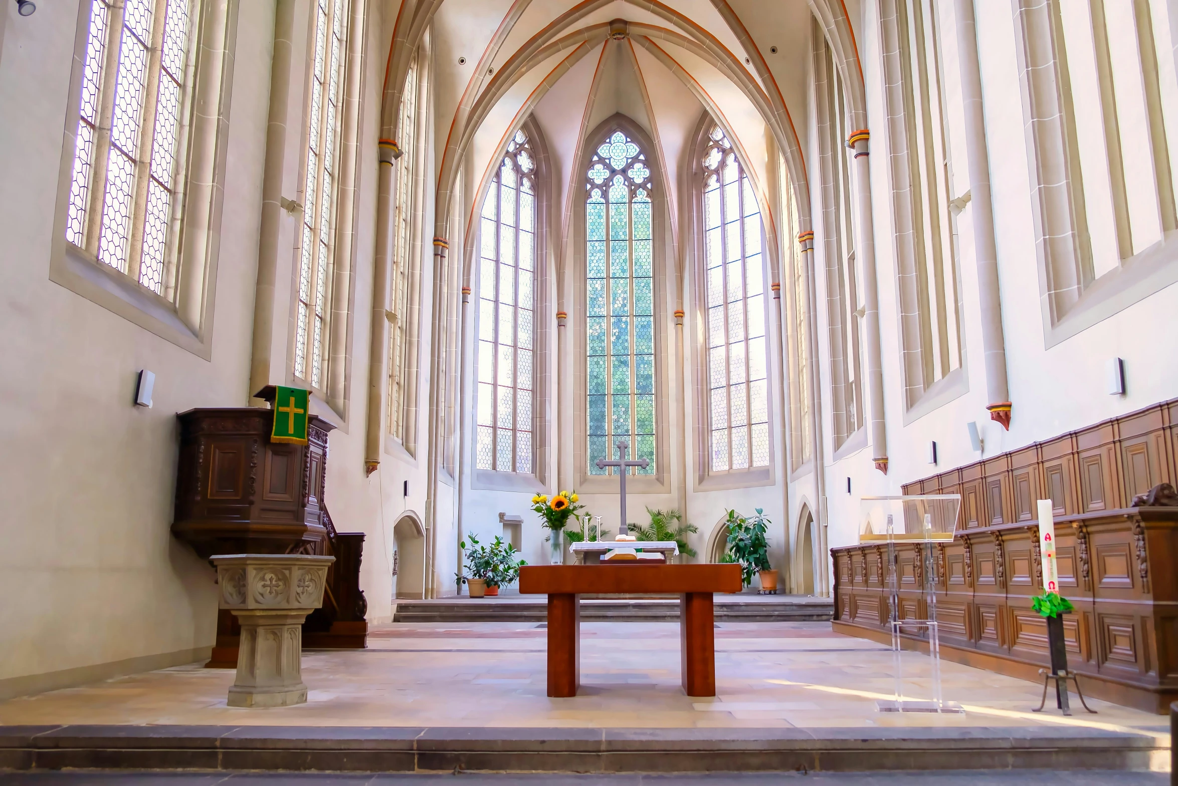
[[(714, 699), (680, 687), (677, 623), (582, 623), (581, 693), (545, 695), (545, 630), (518, 623), (377, 626), (364, 650), (304, 653), (309, 701), (227, 707), (232, 671), (180, 666), (0, 702), (0, 725), (170, 724), (475, 727), (1071, 726), (1164, 735), (1167, 719), (1091, 700), (1099, 714), (1031, 709), (1041, 686), (941, 665), (964, 714), (880, 713), (893, 694), (886, 647), (825, 622), (716, 626)], [(905, 691), (928, 698), (929, 660), (905, 654)]]

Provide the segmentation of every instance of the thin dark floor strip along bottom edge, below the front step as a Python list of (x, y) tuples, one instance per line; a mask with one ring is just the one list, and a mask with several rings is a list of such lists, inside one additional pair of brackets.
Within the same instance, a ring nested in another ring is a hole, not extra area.
[(1011, 770), (1002, 772), (748, 773), (701, 775), (304, 774), (304, 773), (0, 773), (0, 786), (1165, 786), (1160, 772)]

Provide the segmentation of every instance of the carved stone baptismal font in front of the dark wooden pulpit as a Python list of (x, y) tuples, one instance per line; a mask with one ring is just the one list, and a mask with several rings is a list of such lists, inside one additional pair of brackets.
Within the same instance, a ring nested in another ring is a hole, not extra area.
[(220, 607), (241, 625), (231, 707), (287, 707), (306, 701), (303, 620), (323, 605), (333, 556), (221, 554), (212, 557)]

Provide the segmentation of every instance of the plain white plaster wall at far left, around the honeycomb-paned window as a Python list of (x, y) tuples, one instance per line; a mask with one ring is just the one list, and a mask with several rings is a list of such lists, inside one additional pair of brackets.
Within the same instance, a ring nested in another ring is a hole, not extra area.
[(207, 362), (49, 282), (77, 20), (42, 2), (4, 28), (0, 680), (212, 643), (214, 574), (170, 533), (176, 414), (247, 395), (273, 2), (240, 6)]

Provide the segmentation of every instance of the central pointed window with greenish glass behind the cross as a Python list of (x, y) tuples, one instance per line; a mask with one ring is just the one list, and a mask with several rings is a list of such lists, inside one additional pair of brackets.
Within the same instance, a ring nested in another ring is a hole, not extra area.
[(655, 474), (655, 329), (650, 169), (621, 131), (585, 173), (588, 469), (614, 457), (618, 438)]

